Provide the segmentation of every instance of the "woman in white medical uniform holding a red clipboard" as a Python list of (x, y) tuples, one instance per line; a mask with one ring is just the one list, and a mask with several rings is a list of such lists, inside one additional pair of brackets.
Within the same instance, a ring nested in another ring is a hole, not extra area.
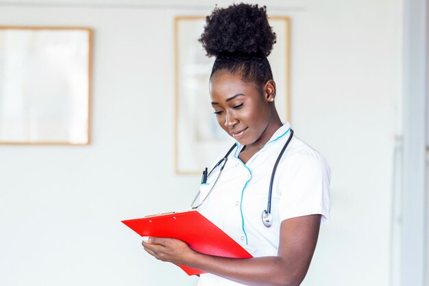
[(293, 136), (275, 109), (267, 60), (275, 34), (266, 8), (243, 3), (215, 8), (199, 41), (208, 56), (216, 56), (210, 76), (215, 117), (237, 143), (201, 187), (198, 210), (254, 258), (201, 254), (172, 238), (144, 237), (143, 247), (161, 261), (208, 272), (201, 274), (201, 286), (297, 286), (306, 276), (319, 226), (328, 219), (330, 169), (321, 154)]

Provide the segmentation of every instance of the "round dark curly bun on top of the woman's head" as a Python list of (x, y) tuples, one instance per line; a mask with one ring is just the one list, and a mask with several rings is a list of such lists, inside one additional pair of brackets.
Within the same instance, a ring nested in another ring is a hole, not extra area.
[(258, 4), (233, 4), (215, 8), (206, 17), (199, 42), (207, 56), (269, 56), (275, 33), (268, 23), (267, 7)]

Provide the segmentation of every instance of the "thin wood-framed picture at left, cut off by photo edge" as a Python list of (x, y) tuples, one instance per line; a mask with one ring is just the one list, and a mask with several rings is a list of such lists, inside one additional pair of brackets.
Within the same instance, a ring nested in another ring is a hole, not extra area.
[(90, 141), (91, 30), (0, 27), (0, 144)]

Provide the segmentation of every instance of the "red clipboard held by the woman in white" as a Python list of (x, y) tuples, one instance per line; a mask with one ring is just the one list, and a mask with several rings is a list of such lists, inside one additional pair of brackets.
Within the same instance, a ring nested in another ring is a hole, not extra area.
[[(252, 258), (249, 252), (198, 211), (169, 213), (122, 222), (142, 237), (173, 237), (185, 241), (190, 248), (204, 254)], [(184, 265), (177, 266), (188, 275), (206, 273)]]

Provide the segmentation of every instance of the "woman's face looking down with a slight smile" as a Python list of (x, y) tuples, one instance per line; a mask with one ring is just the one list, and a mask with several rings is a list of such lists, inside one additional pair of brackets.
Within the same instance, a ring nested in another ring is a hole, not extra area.
[(210, 97), (219, 126), (242, 145), (266, 140), (262, 142), (265, 144), (271, 137), (274, 95), (275, 89), (267, 93), (264, 86), (261, 92), (253, 82), (243, 82), (239, 73), (218, 71), (210, 81)]

